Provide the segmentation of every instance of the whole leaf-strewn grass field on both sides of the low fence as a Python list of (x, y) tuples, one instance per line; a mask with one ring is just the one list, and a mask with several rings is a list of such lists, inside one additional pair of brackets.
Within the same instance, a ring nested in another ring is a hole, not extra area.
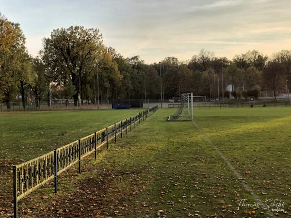
[[(53, 194), (51, 184), (33, 192), (19, 202), (19, 214), (290, 216), (290, 108), (194, 109), (194, 123), (200, 130), (193, 122), (167, 122), (167, 116), (174, 111), (159, 109), (122, 140), (110, 143), (109, 150), (100, 150), (97, 160), (88, 157), (81, 175), (77, 175), (77, 168), (65, 172), (60, 177), (58, 194)], [(103, 113), (112, 119), (102, 116), (100, 121), (94, 120)], [(29, 151), (33, 151), (32, 156), (45, 153), (56, 147), (55, 140), (75, 140), (133, 113), (53, 111), (1, 116), (1, 158), (29, 158)], [(22, 140), (17, 136), (29, 137), (19, 145)], [(37, 149), (32, 150), (34, 146)], [(20, 148), (26, 148), (27, 153)], [(2, 193), (5, 186), (11, 188), (10, 183), (1, 184)], [(240, 205), (242, 199), (252, 205)], [(272, 205), (275, 199), (281, 204)], [(11, 214), (9, 201), (12, 198), (1, 199), (0, 212), (1, 207), (7, 209), (2, 216)], [(284, 212), (270, 213), (262, 205), (256, 208), (258, 201)]]

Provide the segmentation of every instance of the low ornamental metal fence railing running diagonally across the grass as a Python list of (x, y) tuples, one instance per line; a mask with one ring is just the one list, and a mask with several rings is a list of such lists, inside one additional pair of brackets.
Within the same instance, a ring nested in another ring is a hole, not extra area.
[(132, 128), (144, 122), (146, 118), (152, 115), (158, 106), (143, 110), (125, 120), (116, 124), (107, 126), (89, 136), (73, 141), (63, 147), (57, 148), (43, 156), (36, 157), (25, 163), (13, 166), (13, 197), (14, 197), (14, 217), (17, 218), (17, 202), (31, 193), (33, 190), (41, 187), (54, 178), (54, 191), (58, 190), (58, 175), (79, 162), (79, 173), (81, 173), (81, 159), (95, 153), (97, 158), (97, 149), (113, 140), (116, 142), (116, 136), (123, 132), (126, 134), (132, 131)]

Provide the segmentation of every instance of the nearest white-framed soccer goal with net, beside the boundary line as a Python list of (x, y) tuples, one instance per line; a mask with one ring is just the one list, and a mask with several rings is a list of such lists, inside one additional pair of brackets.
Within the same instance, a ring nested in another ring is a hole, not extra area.
[(193, 93), (182, 93), (179, 97), (173, 97), (173, 105), (178, 109), (169, 116), (168, 121), (193, 120)]

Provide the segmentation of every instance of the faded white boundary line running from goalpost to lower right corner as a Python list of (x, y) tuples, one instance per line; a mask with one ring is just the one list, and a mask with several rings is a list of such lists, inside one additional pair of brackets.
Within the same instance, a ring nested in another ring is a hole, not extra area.
[[(203, 130), (200, 129), (200, 127), (194, 122), (194, 120), (192, 120), (192, 122), (196, 126), (198, 131), (201, 133), (203, 138), (206, 141), (208, 141), (208, 143), (211, 145), (211, 147), (214, 148), (215, 151), (219, 154), (219, 156), (226, 162), (226, 164), (228, 165), (230, 170), (237, 176), (237, 178), (239, 179), (239, 181), (242, 184), (242, 186), (252, 195), (252, 197), (255, 199), (255, 201), (257, 203), (259, 203), (259, 205), (261, 205), (262, 208), (263, 208), (265, 206), (265, 204), (260, 200), (259, 196), (257, 194), (255, 194), (253, 192), (253, 190), (244, 181), (242, 181), (241, 174), (238, 171), (235, 170), (235, 168), (231, 165), (231, 163), (226, 159), (226, 157), (221, 153), (221, 151), (213, 144), (213, 142), (208, 138), (208, 136), (203, 132)], [(274, 214), (270, 210), (266, 210), (266, 212), (268, 213), (268, 215), (274, 217)]]

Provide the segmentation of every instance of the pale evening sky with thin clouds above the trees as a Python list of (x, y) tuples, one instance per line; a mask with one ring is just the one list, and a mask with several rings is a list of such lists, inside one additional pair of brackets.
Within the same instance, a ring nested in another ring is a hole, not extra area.
[(0, 0), (20, 24), (35, 57), (57, 28), (98, 28), (105, 46), (146, 63), (190, 60), (204, 48), (215, 56), (257, 49), (291, 50), (291, 0)]

